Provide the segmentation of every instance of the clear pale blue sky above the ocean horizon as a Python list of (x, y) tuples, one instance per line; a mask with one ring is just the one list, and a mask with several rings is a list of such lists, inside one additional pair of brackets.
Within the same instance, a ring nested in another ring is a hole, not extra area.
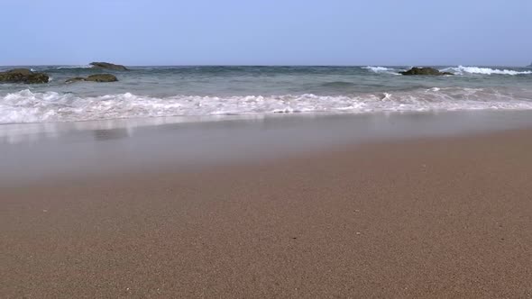
[(531, 0), (0, 0), (0, 65), (527, 65)]

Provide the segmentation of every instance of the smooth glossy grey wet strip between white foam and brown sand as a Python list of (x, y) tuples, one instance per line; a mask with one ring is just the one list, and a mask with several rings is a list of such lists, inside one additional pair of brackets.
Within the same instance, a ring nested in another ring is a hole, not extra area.
[(0, 126), (0, 186), (23, 186), (42, 177), (68, 180), (189, 171), (350, 145), (519, 130), (532, 128), (531, 115), (527, 111), (310, 114), (206, 122), (160, 118), (4, 125)]

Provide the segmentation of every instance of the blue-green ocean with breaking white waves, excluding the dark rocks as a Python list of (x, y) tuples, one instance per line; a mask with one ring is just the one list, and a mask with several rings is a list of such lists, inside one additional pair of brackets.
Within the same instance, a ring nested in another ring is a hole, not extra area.
[[(13, 67), (12, 67), (13, 68)], [(455, 76), (407, 77), (409, 67), (29, 66), (41, 85), (0, 84), (0, 123), (80, 122), (271, 113), (531, 110), (532, 68), (436, 67)], [(8, 67), (0, 67), (0, 70)], [(112, 73), (119, 82), (65, 83)]]

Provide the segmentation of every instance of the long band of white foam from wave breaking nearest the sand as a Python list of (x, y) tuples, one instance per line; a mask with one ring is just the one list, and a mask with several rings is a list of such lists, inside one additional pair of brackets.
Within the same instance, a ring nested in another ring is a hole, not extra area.
[(361, 95), (80, 97), (30, 90), (0, 96), (0, 123), (76, 122), (159, 116), (530, 110), (532, 90), (441, 87)]

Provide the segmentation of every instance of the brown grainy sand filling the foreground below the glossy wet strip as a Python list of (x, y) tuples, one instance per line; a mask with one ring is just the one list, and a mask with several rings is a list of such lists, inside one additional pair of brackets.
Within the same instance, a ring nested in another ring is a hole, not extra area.
[(6, 186), (0, 297), (531, 297), (531, 137)]

